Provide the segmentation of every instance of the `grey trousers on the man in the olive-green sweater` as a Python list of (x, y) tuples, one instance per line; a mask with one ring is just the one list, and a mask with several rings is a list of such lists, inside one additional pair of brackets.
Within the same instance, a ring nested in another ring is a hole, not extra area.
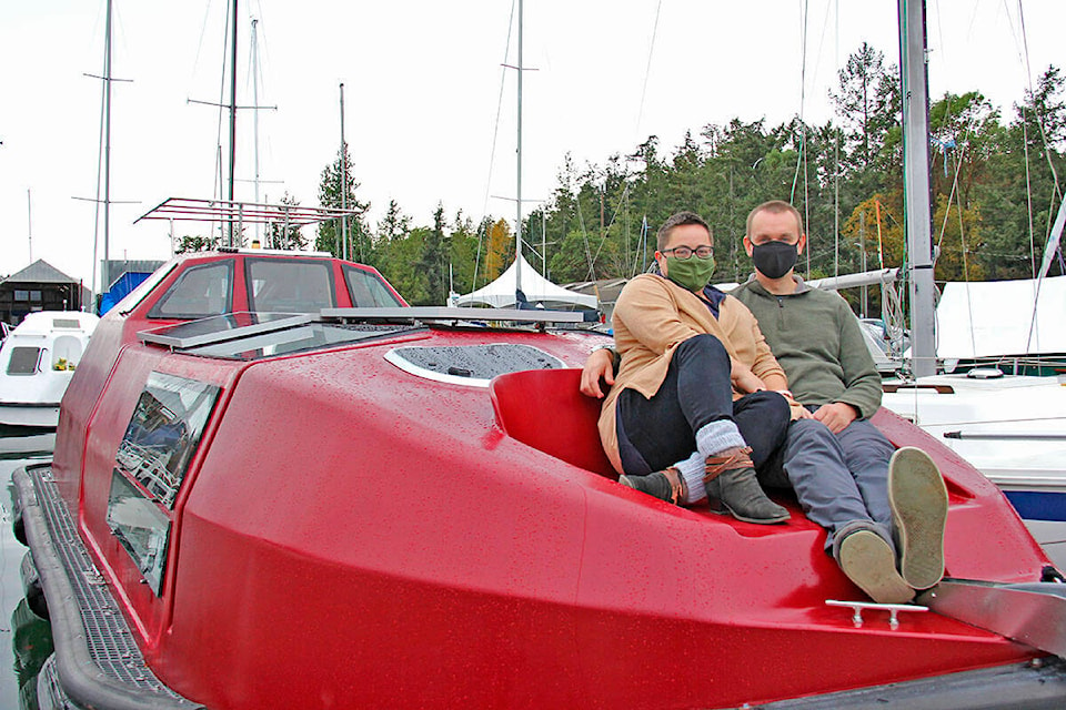
[(839, 434), (815, 419), (797, 419), (788, 426), (781, 466), (772, 467), (777, 475), (760, 479), (795, 490), (807, 518), (828, 532), (825, 549), (834, 558), (839, 541), (858, 529), (873, 530), (895, 550), (888, 507), (893, 452), (866, 419), (855, 419)]

